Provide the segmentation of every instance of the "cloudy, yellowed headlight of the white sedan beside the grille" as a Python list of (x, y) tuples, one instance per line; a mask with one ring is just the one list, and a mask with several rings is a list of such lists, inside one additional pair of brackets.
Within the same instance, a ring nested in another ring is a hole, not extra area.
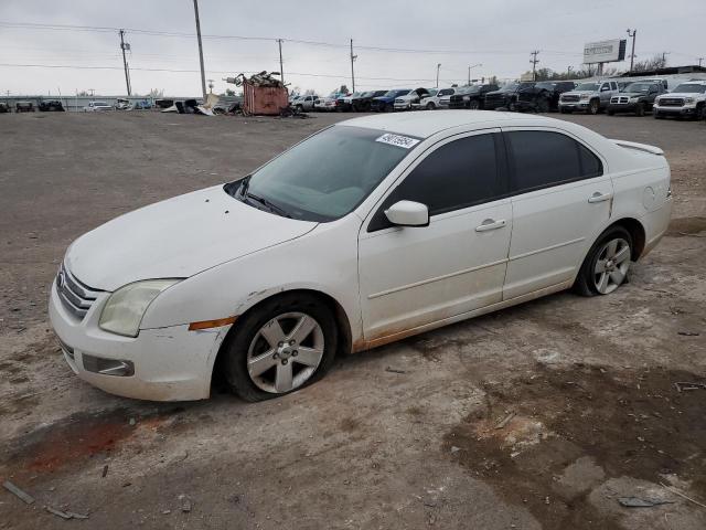
[(180, 279), (147, 279), (120, 287), (103, 308), (98, 326), (105, 331), (137, 337), (142, 316), (162, 290)]

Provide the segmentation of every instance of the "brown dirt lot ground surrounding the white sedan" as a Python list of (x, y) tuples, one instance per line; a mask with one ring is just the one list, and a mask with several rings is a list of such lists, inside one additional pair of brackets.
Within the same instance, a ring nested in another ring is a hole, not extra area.
[(342, 118), (0, 117), (0, 478), (36, 499), (0, 489), (0, 528), (706, 528), (661, 485), (706, 504), (706, 390), (674, 385), (706, 381), (703, 123), (567, 118), (672, 165), (670, 235), (613, 295), (350, 356), (260, 404), (136, 402), (72, 374), (46, 319), (71, 241)]

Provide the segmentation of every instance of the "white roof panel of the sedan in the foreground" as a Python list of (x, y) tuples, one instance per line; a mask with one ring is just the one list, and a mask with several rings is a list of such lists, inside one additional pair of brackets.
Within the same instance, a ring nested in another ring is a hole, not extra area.
[(517, 113), (499, 113), (495, 110), (443, 110), (439, 113), (398, 113), (365, 116), (346, 119), (338, 125), (365, 127), (376, 130), (389, 130), (417, 138), (428, 138), (452, 127), (468, 126), (470, 130), (502, 125), (516, 125), (532, 121), (533, 125), (556, 125), (554, 118), (530, 116)]

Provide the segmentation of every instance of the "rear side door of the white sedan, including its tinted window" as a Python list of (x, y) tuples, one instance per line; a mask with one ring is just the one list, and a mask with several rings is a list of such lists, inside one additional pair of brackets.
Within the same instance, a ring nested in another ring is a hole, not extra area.
[(513, 232), (503, 299), (570, 282), (611, 215), (605, 161), (550, 128), (506, 128)]

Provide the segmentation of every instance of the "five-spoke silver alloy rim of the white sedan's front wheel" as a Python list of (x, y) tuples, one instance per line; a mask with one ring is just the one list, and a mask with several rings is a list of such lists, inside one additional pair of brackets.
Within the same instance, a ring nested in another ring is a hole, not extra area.
[(253, 337), (247, 372), (255, 385), (284, 394), (304, 384), (323, 357), (321, 325), (303, 312), (285, 312), (267, 321)]

